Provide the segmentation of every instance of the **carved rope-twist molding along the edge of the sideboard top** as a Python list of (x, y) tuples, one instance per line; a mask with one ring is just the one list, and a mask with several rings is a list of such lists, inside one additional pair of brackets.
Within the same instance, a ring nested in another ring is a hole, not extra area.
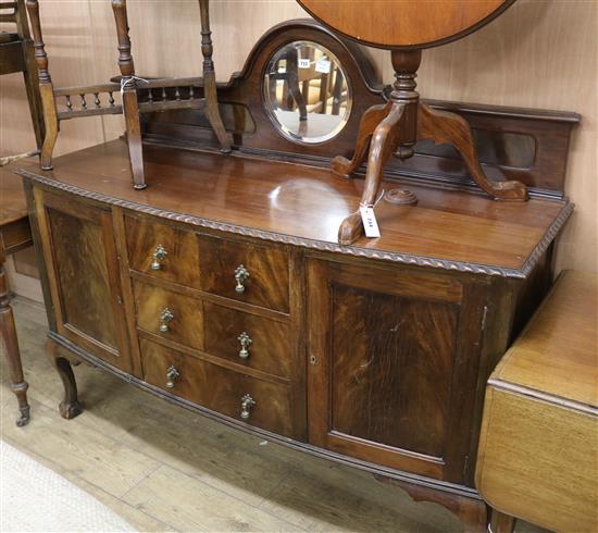
[(574, 209), (574, 203), (568, 203), (563, 207), (557, 219), (552, 222), (547, 230), (543, 238), (536, 245), (530, 257), (525, 260), (521, 269), (507, 269), (503, 266), (493, 266), (488, 264), (470, 263), (465, 261), (453, 261), (449, 259), (438, 259), (425, 256), (412, 256), (408, 253), (370, 250), (367, 248), (359, 248), (349, 245), (339, 245), (338, 243), (328, 243), (324, 240), (309, 239), (304, 237), (295, 237), (290, 235), (284, 235), (273, 232), (264, 232), (262, 230), (254, 230), (251, 227), (238, 226), (235, 224), (228, 224), (225, 222), (216, 222), (208, 219), (200, 219), (189, 214), (175, 213), (172, 211), (165, 211), (159, 208), (152, 208), (150, 206), (144, 206), (129, 200), (123, 200), (121, 198), (114, 198), (103, 195), (101, 193), (94, 193), (91, 190), (82, 189), (75, 185), (68, 185), (63, 182), (59, 182), (52, 177), (41, 176), (34, 174), (24, 169), (18, 169), (16, 174), (33, 179), (42, 185), (47, 185), (51, 188), (72, 193), (74, 195), (88, 198), (90, 200), (100, 201), (102, 203), (110, 203), (123, 209), (130, 209), (132, 211), (138, 211), (146, 214), (152, 214), (162, 219), (174, 220), (177, 222), (184, 222), (200, 227), (208, 227), (225, 233), (234, 233), (248, 237), (259, 238), (262, 240), (271, 240), (274, 243), (283, 243), (295, 246), (302, 246), (304, 248), (313, 248), (316, 250), (332, 251), (337, 253), (345, 253), (347, 256), (365, 257), (371, 259), (378, 259), (382, 261), (393, 261), (402, 264), (411, 264), (418, 266), (429, 266), (434, 269), (452, 270), (458, 272), (465, 272), (469, 274), (485, 274), (491, 276), (501, 277), (515, 277), (525, 278), (532, 272), (541, 255), (548, 249), (565, 221), (569, 219)]

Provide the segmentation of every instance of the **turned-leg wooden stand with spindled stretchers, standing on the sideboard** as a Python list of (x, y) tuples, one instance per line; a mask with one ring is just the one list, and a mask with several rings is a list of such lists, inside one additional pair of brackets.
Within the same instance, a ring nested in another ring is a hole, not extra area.
[[(222, 151), (231, 151), (231, 142), (217, 108), (209, 0), (199, 0), (203, 53), (202, 77), (160, 79), (137, 77), (130, 53), (126, 0), (112, 0), (119, 38), (121, 77), (108, 84), (66, 88), (54, 88), (48, 72), (48, 55), (41, 34), (38, 1), (26, 0), (26, 5), (34, 34), (35, 58), (39, 69), (39, 89), (46, 123), (46, 137), (41, 148), (42, 170), (52, 169), (52, 152), (60, 122), (82, 116), (124, 114), (133, 186), (136, 189), (147, 187), (141, 145), (140, 114), (142, 113), (170, 109), (202, 109), (221, 144)], [(121, 102), (114, 98), (119, 94), (122, 95)], [(89, 97), (92, 97), (92, 102), (88, 101)], [(59, 103), (62, 108), (59, 108)]]

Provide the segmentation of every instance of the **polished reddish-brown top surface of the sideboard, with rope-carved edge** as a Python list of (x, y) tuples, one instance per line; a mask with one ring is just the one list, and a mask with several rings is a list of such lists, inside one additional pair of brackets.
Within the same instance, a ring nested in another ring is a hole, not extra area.
[[(337, 244), (359, 206), (363, 179), (327, 169), (147, 146), (145, 190), (134, 190), (126, 144), (114, 140), (18, 173), (46, 186), (171, 220), (353, 256), (462, 272), (525, 277), (571, 214), (562, 201), (493, 201), (471, 193), (410, 186), (416, 206), (381, 200), (382, 237)], [(385, 182), (386, 190), (397, 183)]]

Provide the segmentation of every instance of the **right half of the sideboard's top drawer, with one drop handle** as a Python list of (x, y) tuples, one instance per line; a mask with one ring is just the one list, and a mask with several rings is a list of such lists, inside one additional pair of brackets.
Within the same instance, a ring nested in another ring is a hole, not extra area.
[[(198, 243), (202, 290), (288, 312), (286, 251), (208, 236), (201, 236)], [(237, 280), (241, 269), (248, 276)]]

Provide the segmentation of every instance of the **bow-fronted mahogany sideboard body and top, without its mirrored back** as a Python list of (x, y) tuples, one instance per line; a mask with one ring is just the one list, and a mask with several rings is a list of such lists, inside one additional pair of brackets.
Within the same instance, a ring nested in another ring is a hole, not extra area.
[(80, 412), (68, 359), (83, 359), (483, 531), (485, 384), (550, 285), (573, 206), (413, 185), (418, 206), (376, 208), (382, 237), (344, 246), (360, 179), (238, 151), (145, 153), (145, 190), (122, 140), (20, 170), (63, 417)]

